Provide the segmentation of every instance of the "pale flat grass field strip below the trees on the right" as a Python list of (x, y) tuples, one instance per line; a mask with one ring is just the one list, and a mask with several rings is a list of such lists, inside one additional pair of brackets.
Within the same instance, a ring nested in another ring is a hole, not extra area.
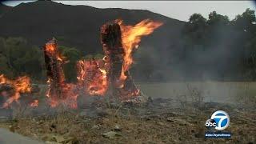
[(190, 89), (196, 89), (205, 102), (239, 103), (242, 99), (256, 99), (256, 82), (144, 82), (138, 83), (138, 87), (152, 98), (177, 99), (182, 95), (189, 96)]

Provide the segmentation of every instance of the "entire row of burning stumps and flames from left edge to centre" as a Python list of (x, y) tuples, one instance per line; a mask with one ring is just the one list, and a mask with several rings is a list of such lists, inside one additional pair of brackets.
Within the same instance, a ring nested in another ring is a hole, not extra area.
[[(100, 60), (79, 60), (77, 62), (77, 83), (67, 83), (62, 66), (67, 62), (58, 51), (55, 39), (44, 46), (46, 75), (49, 88), (46, 94), (51, 107), (68, 106), (77, 108), (79, 95), (108, 96), (129, 101), (130, 98), (142, 95), (135, 86), (130, 75), (130, 66), (133, 64), (132, 54), (138, 48), (142, 36), (151, 34), (161, 22), (149, 19), (139, 22), (135, 26), (126, 26), (121, 20), (108, 22), (101, 28), (101, 42), (105, 57)], [(30, 78), (21, 77), (10, 81), (0, 76), (1, 96), (8, 97), (3, 107), (12, 102), (18, 102), (20, 94), (30, 93)], [(11, 85), (11, 86), (9, 86)], [(2, 90), (2, 87), (6, 89)], [(30, 106), (38, 106), (38, 99)]]

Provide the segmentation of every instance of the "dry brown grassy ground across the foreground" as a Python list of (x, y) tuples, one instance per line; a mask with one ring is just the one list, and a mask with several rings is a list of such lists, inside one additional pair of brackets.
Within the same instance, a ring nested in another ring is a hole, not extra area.
[[(78, 113), (63, 112), (54, 117), (19, 118), (0, 126), (10, 126), (10, 130), (19, 134), (59, 143), (255, 142), (255, 110), (231, 112), (231, 124), (226, 129), (233, 134), (230, 139), (204, 138), (204, 122), (210, 117), (211, 110), (202, 114), (190, 111), (145, 117), (134, 114), (124, 117), (117, 109), (106, 111), (108, 114), (100, 118), (86, 118)], [(120, 130), (114, 130), (115, 126), (119, 126)], [(102, 137), (102, 134), (109, 131), (116, 131), (121, 136), (114, 139)]]

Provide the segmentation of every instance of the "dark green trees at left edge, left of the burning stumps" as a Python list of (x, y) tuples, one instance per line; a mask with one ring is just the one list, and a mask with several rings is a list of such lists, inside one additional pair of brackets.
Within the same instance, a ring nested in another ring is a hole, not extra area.
[(42, 51), (31, 46), (24, 38), (0, 38), (1, 66), (0, 73), (17, 77), (30, 75), (31, 78), (42, 76)]

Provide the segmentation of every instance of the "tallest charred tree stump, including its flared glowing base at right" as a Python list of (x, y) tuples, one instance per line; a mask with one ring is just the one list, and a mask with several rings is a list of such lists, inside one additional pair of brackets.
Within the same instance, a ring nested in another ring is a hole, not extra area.
[(110, 95), (119, 98), (140, 95), (129, 71), (125, 72), (125, 82), (120, 79), (124, 62), (124, 49), (122, 46), (122, 32), (118, 23), (110, 22), (102, 26), (101, 42), (105, 53), (106, 75), (110, 83), (109, 91), (112, 93)]

